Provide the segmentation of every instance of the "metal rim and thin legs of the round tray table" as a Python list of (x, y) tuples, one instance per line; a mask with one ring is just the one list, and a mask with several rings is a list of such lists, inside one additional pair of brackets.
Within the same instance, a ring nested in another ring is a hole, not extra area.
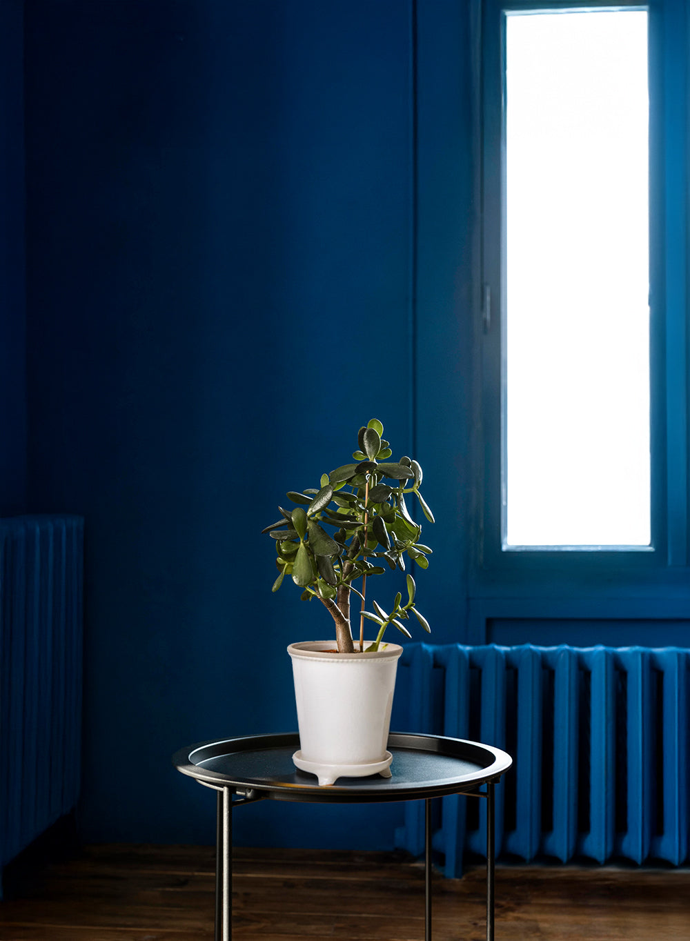
[[(230, 779), (223, 774), (206, 771), (191, 761), (195, 752), (214, 746), (228, 746), (229, 751), (233, 745), (256, 744), (258, 748), (271, 748), (290, 744), (298, 747), (296, 733), (288, 735), (260, 735), (244, 739), (227, 739), (220, 742), (200, 742), (183, 748), (177, 752), (172, 761), (178, 771), (189, 774), (204, 787), (217, 791), (217, 830), (216, 830), (216, 941), (232, 941), (233, 937), (233, 809), (234, 807), (255, 804), (264, 800), (285, 800), (304, 803), (377, 803), (378, 801), (425, 801), (425, 941), (432, 941), (431, 935), (431, 802), (435, 797), (447, 794), (465, 794), (468, 797), (479, 797), (487, 801), (487, 941), (494, 941), (494, 869), (495, 869), (495, 836), (494, 836), (494, 787), (501, 775), (512, 764), (512, 758), (498, 748), (484, 745), (480, 742), (468, 742), (459, 739), (448, 739), (441, 736), (410, 735), (407, 733), (392, 733), (389, 737), (389, 748), (407, 747), (414, 749), (416, 744), (423, 743), (433, 747), (430, 751), (441, 753), (447, 743), (467, 746), (470, 749), (489, 752), (495, 758), (492, 764), (481, 770), (480, 774), (463, 775), (455, 781), (446, 780), (441, 784), (417, 785), (409, 789), (385, 791), (381, 789), (376, 795), (358, 789), (356, 784), (348, 789), (337, 785), (317, 788), (313, 785), (303, 789), (281, 782), (266, 780)], [(313, 780), (311, 775), (305, 780)], [(348, 778), (349, 782), (354, 779)], [(486, 790), (480, 790), (486, 785)], [(384, 796), (381, 796), (381, 795)]]

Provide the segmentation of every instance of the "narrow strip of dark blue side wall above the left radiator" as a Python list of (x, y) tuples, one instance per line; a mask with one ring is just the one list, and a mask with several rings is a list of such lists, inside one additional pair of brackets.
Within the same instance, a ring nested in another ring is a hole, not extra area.
[(26, 486), (24, 342), (24, 5), (0, 4), (0, 516)]

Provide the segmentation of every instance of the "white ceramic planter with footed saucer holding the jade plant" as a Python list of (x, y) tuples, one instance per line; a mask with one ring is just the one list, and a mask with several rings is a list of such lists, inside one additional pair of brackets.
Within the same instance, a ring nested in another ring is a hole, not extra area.
[[(367, 641), (368, 646), (371, 641)], [(372, 653), (329, 653), (334, 641), (304, 641), (287, 648), (293, 662), (299, 751), (293, 761), (320, 785), (341, 775), (390, 776), (386, 750), (397, 662), (403, 648)]]

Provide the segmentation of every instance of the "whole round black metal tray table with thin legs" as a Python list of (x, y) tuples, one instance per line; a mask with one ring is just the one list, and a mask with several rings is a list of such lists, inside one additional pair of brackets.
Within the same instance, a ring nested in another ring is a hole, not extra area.
[[(499, 748), (439, 735), (392, 732), (392, 777), (341, 777), (320, 787), (313, 774), (297, 771), (297, 732), (199, 742), (181, 748), (172, 762), (205, 787), (217, 790), (216, 941), (231, 941), (233, 916), (233, 808), (261, 800), (311, 804), (376, 804), (424, 800), (425, 941), (431, 941), (431, 801), (467, 794), (487, 801), (487, 941), (494, 938), (495, 783), (512, 764)], [(480, 790), (481, 785), (486, 789)]]

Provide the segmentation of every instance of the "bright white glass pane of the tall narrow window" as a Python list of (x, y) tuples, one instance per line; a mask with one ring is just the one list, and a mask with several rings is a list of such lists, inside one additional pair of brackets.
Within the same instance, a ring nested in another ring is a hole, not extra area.
[(650, 544), (647, 27), (506, 14), (505, 549)]

